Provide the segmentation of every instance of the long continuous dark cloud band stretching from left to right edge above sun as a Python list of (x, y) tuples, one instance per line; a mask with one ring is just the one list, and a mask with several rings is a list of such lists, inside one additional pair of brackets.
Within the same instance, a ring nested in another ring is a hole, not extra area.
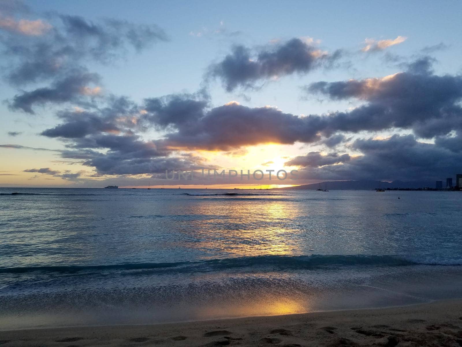
[(62, 112), (64, 123), (42, 134), (73, 139), (78, 148), (95, 149), (104, 148), (101, 142), (106, 136), (102, 134), (120, 135), (117, 141), (128, 145), (128, 141), (139, 141), (134, 134), (154, 127), (164, 132), (163, 138), (153, 142), (162, 155), (176, 149), (234, 151), (261, 143), (333, 147), (346, 141), (346, 133), (395, 128), (413, 130), (425, 138), (445, 136), (462, 129), (462, 77), (435, 75), (430, 63), (421, 58), (409, 64), (407, 71), (386, 77), (316, 82), (305, 87), (308, 93), (329, 99), (364, 102), (347, 112), (300, 116), (236, 102), (211, 108), (207, 94), (182, 93), (148, 98), (141, 105), (122, 98), (105, 109)]

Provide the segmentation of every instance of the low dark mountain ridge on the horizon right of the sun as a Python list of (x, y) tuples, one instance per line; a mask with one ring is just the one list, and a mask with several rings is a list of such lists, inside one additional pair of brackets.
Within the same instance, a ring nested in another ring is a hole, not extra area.
[[(358, 180), (358, 181), (324, 181), (313, 184), (305, 184), (303, 186), (293, 186), (293, 187), (284, 187), (279, 189), (318, 189), (321, 184), (322, 188), (327, 184), (327, 189), (343, 189), (343, 190), (372, 190), (376, 189), (379, 186), (379, 181), (371, 180)], [(387, 188), (424, 188), (430, 187), (435, 188), (434, 181), (413, 181), (413, 182), (403, 182), (403, 181), (393, 181), (386, 182), (380, 181), (380, 187), (383, 189)]]

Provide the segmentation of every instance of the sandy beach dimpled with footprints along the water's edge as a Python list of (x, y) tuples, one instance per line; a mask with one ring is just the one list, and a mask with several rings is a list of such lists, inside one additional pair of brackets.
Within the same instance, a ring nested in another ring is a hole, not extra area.
[(462, 346), (462, 300), (138, 326), (9, 330), (10, 346)]

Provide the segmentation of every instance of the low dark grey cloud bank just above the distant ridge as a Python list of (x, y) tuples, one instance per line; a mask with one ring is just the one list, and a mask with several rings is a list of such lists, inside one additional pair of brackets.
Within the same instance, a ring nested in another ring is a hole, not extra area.
[[(359, 139), (351, 149), (362, 154), (314, 152), (287, 164), (300, 167), (300, 178), (319, 180), (441, 180), (461, 169), (460, 152), (419, 142), (413, 135), (394, 135), (385, 140)], [(339, 160), (348, 157), (346, 161)]]

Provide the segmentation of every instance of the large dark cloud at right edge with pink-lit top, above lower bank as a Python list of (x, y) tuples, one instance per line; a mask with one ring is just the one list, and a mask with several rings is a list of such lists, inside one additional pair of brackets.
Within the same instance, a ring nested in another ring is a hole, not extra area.
[(430, 63), (424, 57), (407, 71), (381, 79), (316, 82), (306, 91), (365, 101), (350, 112), (331, 114), (326, 133), (401, 128), (424, 138), (442, 136), (462, 127), (462, 76), (435, 75)]

